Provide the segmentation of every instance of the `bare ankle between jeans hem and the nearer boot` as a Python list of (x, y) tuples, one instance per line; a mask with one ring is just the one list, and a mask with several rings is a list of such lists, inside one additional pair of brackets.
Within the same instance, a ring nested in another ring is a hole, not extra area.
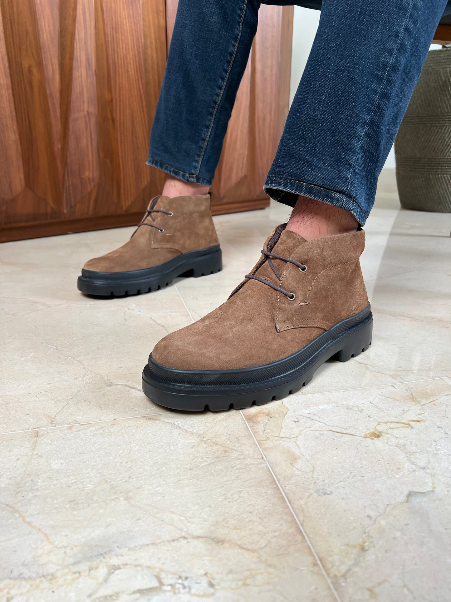
[(305, 240), (355, 232), (358, 222), (350, 211), (299, 196), (290, 216), (287, 230), (300, 234)]

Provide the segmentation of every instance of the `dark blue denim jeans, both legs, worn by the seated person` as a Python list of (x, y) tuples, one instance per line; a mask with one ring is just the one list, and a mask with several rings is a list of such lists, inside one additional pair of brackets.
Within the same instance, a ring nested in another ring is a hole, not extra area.
[[(186, 182), (212, 183), (260, 4), (179, 1), (149, 165)], [(446, 4), (323, 0), (318, 33), (266, 178), (269, 196), (290, 206), (299, 195), (311, 197), (365, 223)]]

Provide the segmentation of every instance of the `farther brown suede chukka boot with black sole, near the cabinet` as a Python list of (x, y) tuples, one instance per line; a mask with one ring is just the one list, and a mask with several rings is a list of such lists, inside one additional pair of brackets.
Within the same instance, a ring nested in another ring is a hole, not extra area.
[(127, 243), (84, 265), (78, 290), (105, 297), (148, 293), (177, 276), (197, 278), (221, 268), (209, 194), (156, 196)]

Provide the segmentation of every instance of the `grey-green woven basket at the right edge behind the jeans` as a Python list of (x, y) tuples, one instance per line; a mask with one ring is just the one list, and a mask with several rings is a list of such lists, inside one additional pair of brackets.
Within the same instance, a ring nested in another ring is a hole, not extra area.
[(451, 212), (451, 48), (429, 51), (394, 154), (401, 206)]

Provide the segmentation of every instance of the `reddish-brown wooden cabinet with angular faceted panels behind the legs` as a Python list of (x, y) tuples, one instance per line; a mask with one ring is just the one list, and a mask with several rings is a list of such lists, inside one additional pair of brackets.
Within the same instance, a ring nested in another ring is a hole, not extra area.
[[(167, 5), (166, 5), (167, 4)], [(131, 225), (174, 0), (0, 0), (0, 240)], [(268, 205), (288, 110), (292, 7), (262, 6), (213, 182), (213, 211)]]

